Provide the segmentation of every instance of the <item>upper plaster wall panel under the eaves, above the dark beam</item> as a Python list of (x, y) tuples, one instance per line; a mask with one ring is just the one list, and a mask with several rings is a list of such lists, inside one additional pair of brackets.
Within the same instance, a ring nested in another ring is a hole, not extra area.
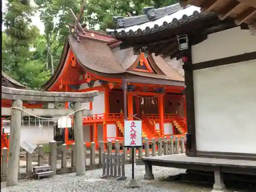
[(208, 39), (192, 47), (193, 63), (256, 51), (256, 36), (240, 27), (208, 35)]

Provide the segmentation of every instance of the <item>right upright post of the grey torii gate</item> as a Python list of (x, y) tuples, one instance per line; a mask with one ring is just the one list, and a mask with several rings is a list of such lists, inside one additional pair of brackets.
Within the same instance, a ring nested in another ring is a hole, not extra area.
[[(81, 102), (75, 102), (75, 110), (81, 109)], [(84, 159), (83, 148), (83, 125), (82, 125), (82, 111), (78, 111), (74, 115), (74, 133), (76, 145), (76, 175), (86, 174), (86, 164)]]

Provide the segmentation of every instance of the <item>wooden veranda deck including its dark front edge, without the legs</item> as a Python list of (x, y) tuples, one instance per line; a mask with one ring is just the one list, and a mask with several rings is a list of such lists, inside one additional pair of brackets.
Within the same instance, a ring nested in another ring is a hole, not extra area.
[(145, 164), (154, 166), (256, 175), (256, 161), (251, 160), (187, 157), (185, 154), (144, 157), (141, 160)]

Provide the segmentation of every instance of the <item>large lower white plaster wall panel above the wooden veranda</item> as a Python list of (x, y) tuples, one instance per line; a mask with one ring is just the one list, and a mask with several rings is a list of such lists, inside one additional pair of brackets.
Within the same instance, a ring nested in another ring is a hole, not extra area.
[(256, 60), (194, 71), (198, 151), (256, 154), (255, 72)]

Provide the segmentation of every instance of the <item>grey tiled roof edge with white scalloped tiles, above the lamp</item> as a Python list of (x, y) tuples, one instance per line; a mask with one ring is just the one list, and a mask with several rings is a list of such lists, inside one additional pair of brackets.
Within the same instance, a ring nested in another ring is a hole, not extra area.
[[(165, 12), (157, 17), (157, 13), (160, 12), (160, 10), (165, 10)], [(155, 14), (156, 16), (152, 19), (150, 19), (150, 16), (146, 14), (130, 18), (118, 17), (116, 18), (116, 21), (119, 28), (107, 29), (106, 31), (116, 38), (125, 36), (139, 36), (154, 33), (166, 28), (176, 28), (184, 23), (203, 16), (199, 7), (187, 6), (186, 8), (182, 8), (179, 4), (156, 9)], [(148, 19), (143, 19), (146, 17)], [(136, 18), (139, 21), (136, 22)], [(128, 23), (127, 25), (126, 22)], [(123, 26), (120, 27), (122, 24)]]

